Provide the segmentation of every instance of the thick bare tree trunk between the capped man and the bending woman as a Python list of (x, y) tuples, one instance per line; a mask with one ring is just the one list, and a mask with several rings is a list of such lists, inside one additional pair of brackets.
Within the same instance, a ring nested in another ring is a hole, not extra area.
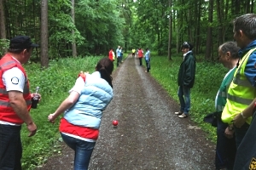
[(48, 0), (41, 3), (41, 66), (48, 67)]

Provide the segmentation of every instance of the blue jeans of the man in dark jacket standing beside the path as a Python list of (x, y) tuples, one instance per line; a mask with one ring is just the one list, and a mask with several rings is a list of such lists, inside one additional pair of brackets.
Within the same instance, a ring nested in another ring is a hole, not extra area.
[(180, 111), (188, 115), (190, 109), (190, 88), (179, 86), (177, 96), (180, 102)]

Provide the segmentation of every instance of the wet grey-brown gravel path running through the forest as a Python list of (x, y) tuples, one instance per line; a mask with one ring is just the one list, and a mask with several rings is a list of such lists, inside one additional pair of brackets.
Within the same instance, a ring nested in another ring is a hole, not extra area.
[[(113, 73), (114, 97), (104, 111), (89, 169), (215, 169), (215, 145), (189, 117), (174, 115), (178, 104), (138, 62), (129, 55)], [(61, 156), (37, 169), (73, 169), (73, 150), (62, 147)]]

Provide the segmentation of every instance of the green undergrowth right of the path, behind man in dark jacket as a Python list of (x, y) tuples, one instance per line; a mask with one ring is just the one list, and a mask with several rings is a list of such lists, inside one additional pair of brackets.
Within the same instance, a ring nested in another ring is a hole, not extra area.
[[(172, 99), (179, 103), (177, 98), (177, 72), (183, 61), (182, 55), (172, 56), (172, 60), (166, 56), (151, 58), (151, 75), (166, 89)], [(207, 133), (207, 139), (216, 142), (216, 127), (203, 122), (203, 117), (214, 111), (214, 100), (227, 69), (219, 63), (207, 61), (196, 62), (195, 85), (191, 89), (191, 110), (189, 117), (203, 131)]]

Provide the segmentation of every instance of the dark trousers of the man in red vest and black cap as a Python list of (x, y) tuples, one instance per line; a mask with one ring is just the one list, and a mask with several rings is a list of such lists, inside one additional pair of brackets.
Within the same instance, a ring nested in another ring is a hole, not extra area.
[(21, 126), (0, 124), (0, 169), (21, 170)]

